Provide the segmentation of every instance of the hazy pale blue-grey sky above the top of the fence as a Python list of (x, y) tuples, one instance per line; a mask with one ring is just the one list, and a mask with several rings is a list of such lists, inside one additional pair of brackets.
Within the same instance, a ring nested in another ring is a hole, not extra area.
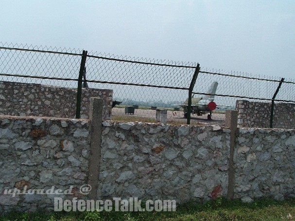
[(0, 41), (295, 78), (295, 0), (0, 0)]

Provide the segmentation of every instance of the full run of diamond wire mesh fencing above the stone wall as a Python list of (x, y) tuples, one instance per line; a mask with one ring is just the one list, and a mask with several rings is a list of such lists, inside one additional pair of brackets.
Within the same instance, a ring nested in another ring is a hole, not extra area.
[[(168, 123), (199, 124), (209, 119), (224, 125), (225, 110), (234, 109), (237, 99), (295, 102), (292, 79), (200, 68), (195, 62), (2, 42), (0, 76), (1, 81), (77, 88), (76, 118), (80, 118), (86, 82), (89, 88), (113, 90), (117, 105), (112, 108), (112, 119), (122, 121), (156, 122), (156, 109), (162, 109), (167, 110)], [(214, 111), (194, 108), (213, 99)]]

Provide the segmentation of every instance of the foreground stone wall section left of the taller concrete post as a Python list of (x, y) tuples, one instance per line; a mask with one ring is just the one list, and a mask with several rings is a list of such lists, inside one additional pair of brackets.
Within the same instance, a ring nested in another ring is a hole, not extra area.
[[(0, 116), (0, 213), (53, 207), (53, 197), (82, 197), (89, 148), (88, 120)], [(73, 194), (3, 194), (5, 189), (49, 190), (52, 185)]]

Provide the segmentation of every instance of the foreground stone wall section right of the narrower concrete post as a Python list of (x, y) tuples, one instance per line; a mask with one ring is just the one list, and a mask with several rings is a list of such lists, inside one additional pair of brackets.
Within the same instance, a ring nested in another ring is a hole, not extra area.
[(295, 197), (295, 130), (239, 129), (234, 197)]

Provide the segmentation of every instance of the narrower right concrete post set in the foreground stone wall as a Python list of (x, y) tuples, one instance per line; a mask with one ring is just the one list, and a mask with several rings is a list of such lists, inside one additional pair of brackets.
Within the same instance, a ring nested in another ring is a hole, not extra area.
[(226, 111), (226, 127), (230, 129), (227, 199), (232, 200), (234, 197), (234, 150), (238, 128), (238, 111)]

